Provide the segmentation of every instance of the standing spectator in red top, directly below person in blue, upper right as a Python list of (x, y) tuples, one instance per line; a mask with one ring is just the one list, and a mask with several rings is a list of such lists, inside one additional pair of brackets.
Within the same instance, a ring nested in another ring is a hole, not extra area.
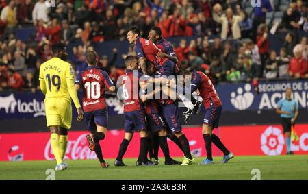
[(268, 40), (268, 27), (262, 23), (258, 27), (257, 46), (261, 57), (261, 71), (259, 77), (263, 77), (264, 66), (268, 59), (268, 51), (270, 49), (270, 41)]

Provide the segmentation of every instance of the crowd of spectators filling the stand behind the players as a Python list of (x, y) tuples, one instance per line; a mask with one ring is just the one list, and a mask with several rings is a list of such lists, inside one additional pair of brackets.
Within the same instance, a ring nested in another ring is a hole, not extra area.
[[(81, 43), (73, 48), (70, 61), (78, 74), (86, 67), (85, 53), (93, 49), (92, 43), (123, 41), (133, 26), (144, 37), (154, 26), (162, 29), (164, 38), (198, 37), (173, 45), (178, 66), (203, 71), (214, 83), (308, 77), (307, 38), (298, 38), (298, 31), (308, 32), (308, 3), (297, 0), (287, 5), (277, 23), (287, 36), (276, 53), (270, 50), (271, 26), (265, 22), (266, 14), (274, 11), (273, 1), (261, 0), (251, 15), (242, 1), (1, 0), (0, 90), (38, 90), (40, 64), (51, 58), (51, 45), (58, 42)], [(24, 26), (36, 27), (26, 42), (16, 39), (16, 30)], [(111, 59), (100, 56), (99, 66), (116, 80), (124, 70), (115, 67), (116, 48), (113, 53)]]

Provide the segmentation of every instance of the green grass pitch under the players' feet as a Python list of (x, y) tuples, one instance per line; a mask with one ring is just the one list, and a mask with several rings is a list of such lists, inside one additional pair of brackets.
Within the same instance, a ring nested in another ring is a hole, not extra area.
[[(181, 158), (176, 158), (181, 160)], [(203, 158), (196, 158), (201, 162)], [(308, 156), (235, 156), (227, 164), (163, 165), (136, 167), (136, 158), (125, 158), (127, 167), (101, 169), (98, 160), (68, 160), (68, 169), (56, 171), (55, 180), (251, 180), (259, 169), (261, 180), (308, 180)], [(0, 162), (0, 180), (45, 180), (55, 161)]]

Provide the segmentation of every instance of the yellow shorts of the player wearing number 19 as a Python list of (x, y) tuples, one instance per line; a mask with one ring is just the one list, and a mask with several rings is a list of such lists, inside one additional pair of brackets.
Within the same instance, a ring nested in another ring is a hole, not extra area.
[(47, 127), (60, 126), (70, 129), (72, 126), (72, 104), (59, 98), (45, 100)]

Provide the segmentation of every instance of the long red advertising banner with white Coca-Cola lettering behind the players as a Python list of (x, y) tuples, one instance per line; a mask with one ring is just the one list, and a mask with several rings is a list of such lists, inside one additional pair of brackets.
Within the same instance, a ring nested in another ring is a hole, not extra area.
[[(308, 125), (296, 125), (298, 141), (292, 143), (295, 154), (308, 154)], [(205, 147), (201, 128), (183, 130), (190, 141), (190, 149), (195, 156), (205, 156)], [(243, 155), (281, 155), (285, 154), (285, 137), (280, 125), (259, 126), (223, 126), (214, 131), (235, 156)], [(94, 152), (88, 149), (86, 142), (88, 132), (69, 132), (67, 160), (95, 159)], [(104, 158), (116, 158), (118, 148), (123, 140), (123, 130), (108, 131), (105, 140), (101, 141)], [(168, 141), (172, 156), (183, 156), (181, 150)], [(129, 144), (125, 158), (138, 157), (140, 136), (135, 134)], [(0, 134), (0, 160), (53, 160), (49, 142), (49, 132)], [(213, 145), (214, 156), (222, 153)], [(159, 150), (159, 156), (162, 151)]]

